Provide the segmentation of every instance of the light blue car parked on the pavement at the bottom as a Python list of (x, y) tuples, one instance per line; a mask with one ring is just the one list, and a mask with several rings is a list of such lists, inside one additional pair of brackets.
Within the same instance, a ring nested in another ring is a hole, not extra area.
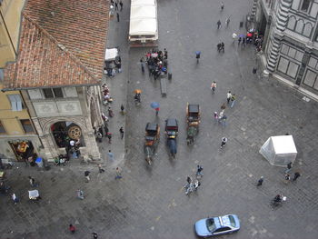
[(204, 218), (194, 224), (198, 236), (208, 237), (218, 234), (232, 234), (240, 230), (240, 220), (235, 214)]

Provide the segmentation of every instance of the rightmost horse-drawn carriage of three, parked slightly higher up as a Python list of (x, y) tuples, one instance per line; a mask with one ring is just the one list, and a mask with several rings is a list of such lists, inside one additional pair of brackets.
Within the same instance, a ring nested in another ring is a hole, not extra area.
[(194, 144), (194, 136), (199, 133), (200, 105), (186, 105), (186, 144)]

